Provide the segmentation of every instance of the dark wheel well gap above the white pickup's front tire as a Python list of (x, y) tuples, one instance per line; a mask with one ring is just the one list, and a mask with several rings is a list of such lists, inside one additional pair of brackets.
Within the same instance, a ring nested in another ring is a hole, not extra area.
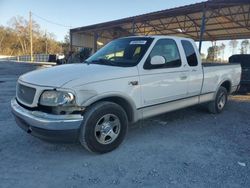
[(121, 97), (106, 97), (106, 98), (100, 99), (96, 102), (99, 102), (99, 101), (109, 101), (109, 102), (114, 102), (114, 103), (120, 105), (125, 110), (127, 117), (128, 117), (128, 121), (129, 122), (133, 121), (134, 111), (133, 111), (131, 104), (126, 99), (123, 99)]

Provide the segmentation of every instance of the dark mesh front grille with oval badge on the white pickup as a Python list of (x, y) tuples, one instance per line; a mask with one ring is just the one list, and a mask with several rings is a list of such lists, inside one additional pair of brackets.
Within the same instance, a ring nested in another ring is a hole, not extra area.
[(17, 84), (17, 98), (27, 104), (32, 104), (36, 94), (36, 89), (22, 84)]

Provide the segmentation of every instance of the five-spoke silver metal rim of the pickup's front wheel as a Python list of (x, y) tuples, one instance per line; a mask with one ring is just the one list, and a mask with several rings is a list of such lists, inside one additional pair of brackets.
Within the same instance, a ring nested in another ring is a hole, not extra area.
[(114, 114), (105, 114), (95, 125), (95, 138), (100, 144), (111, 144), (120, 133), (121, 123)]

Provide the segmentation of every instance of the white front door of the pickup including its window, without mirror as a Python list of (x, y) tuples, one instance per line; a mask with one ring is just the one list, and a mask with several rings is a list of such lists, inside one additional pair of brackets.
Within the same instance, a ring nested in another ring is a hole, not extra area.
[[(163, 56), (164, 65), (151, 65), (153, 56)], [(159, 39), (140, 71), (142, 107), (167, 103), (187, 96), (189, 70), (181, 61), (173, 39)]]

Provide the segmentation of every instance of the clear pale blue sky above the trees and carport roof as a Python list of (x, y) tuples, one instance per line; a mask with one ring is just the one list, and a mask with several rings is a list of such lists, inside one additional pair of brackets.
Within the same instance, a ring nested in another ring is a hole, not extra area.
[[(105, 21), (116, 20), (129, 16), (140, 15), (152, 11), (159, 11), (178, 6), (201, 2), (201, 0), (0, 0), (0, 25), (7, 26), (14, 16), (32, 19), (47, 32), (52, 32), (56, 40), (63, 41), (70, 28), (92, 25)], [(43, 19), (41, 19), (43, 18)], [(52, 24), (45, 20), (52, 21)], [(230, 55), (226, 41), (225, 58)], [(202, 53), (206, 54), (211, 42), (203, 43)]]

